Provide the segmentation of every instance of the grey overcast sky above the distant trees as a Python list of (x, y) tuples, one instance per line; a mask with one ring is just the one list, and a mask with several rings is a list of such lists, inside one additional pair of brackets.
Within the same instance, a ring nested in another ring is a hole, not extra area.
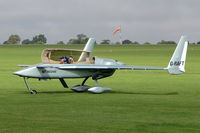
[(0, 0), (0, 43), (40, 33), (51, 44), (79, 33), (116, 42), (112, 32), (120, 25), (123, 40), (200, 41), (200, 0)]

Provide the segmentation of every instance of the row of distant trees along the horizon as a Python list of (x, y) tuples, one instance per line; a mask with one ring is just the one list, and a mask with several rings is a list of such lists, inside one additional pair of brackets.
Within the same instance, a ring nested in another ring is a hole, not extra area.
[[(58, 45), (65, 45), (65, 44), (85, 44), (87, 43), (89, 37), (87, 37), (87, 35), (84, 34), (78, 34), (76, 36), (76, 38), (71, 38), (69, 39), (69, 41), (67, 43), (64, 43), (63, 41), (58, 41), (56, 44)], [(25, 39), (21, 41), (21, 38), (19, 35), (10, 35), (8, 40), (4, 41), (3, 44), (46, 44), (47, 43), (47, 38), (44, 34), (39, 34), (34, 36), (31, 40), (30, 39)], [(97, 43), (96, 43), (97, 44)], [(111, 41), (109, 39), (105, 39), (102, 40), (99, 44), (116, 44), (116, 45), (120, 45), (120, 42), (116, 42), (116, 43), (111, 43)], [(123, 40), (122, 44), (140, 44), (137, 41), (130, 41), (128, 39)], [(145, 42), (143, 43), (145, 45), (151, 45), (150, 42)], [(156, 44), (158, 45), (164, 45), (164, 44), (176, 44), (176, 42), (174, 41), (165, 41), (165, 40), (161, 40), (159, 42), (157, 42)], [(200, 41), (197, 43), (192, 43), (192, 44), (200, 44)]]

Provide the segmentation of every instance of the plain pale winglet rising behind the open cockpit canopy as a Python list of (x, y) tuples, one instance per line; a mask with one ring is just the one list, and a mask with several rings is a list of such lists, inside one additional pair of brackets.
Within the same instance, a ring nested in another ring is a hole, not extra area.
[[(85, 48), (83, 49), (83, 51), (89, 52), (89, 59), (91, 59), (91, 57), (92, 57), (92, 51), (93, 51), (93, 48), (94, 48), (94, 43), (95, 43), (95, 39), (94, 38), (90, 38), (88, 40), (87, 44), (85, 45)], [(87, 53), (86, 52), (82, 52), (81, 56), (78, 59), (78, 62), (79, 61), (86, 61), (86, 56), (87, 56)]]

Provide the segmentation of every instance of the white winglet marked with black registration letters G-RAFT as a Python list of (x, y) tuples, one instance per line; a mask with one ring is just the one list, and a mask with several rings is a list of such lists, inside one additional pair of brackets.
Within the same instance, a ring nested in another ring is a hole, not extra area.
[(167, 67), (169, 74), (178, 75), (185, 72), (188, 43), (187, 37), (181, 36), (181, 39)]

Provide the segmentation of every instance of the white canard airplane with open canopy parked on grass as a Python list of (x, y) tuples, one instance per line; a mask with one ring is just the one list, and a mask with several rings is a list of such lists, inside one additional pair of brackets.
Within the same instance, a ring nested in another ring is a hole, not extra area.
[[(111, 89), (99, 86), (97, 80), (113, 75), (115, 70), (168, 70), (169, 74), (172, 75), (185, 72), (185, 60), (189, 43), (186, 36), (181, 37), (168, 66), (165, 68), (126, 66), (123, 62), (113, 59), (104, 59), (96, 56), (92, 58), (94, 43), (95, 39), (90, 38), (83, 50), (45, 49), (42, 53), (43, 63), (37, 65), (18, 65), (26, 68), (13, 74), (24, 77), (28, 90), (31, 94), (36, 94), (37, 91), (29, 87), (28, 78), (38, 78), (39, 80), (59, 79), (65, 88), (68, 88), (68, 85), (64, 78), (85, 78), (80, 85), (73, 86), (71, 89), (76, 92), (102, 93)], [(60, 58), (61, 56), (62, 58)], [(71, 62), (69, 62), (66, 56), (73, 56)], [(60, 64), (61, 62), (63, 64)], [(89, 77), (92, 77), (95, 81), (95, 87), (85, 85)]]

